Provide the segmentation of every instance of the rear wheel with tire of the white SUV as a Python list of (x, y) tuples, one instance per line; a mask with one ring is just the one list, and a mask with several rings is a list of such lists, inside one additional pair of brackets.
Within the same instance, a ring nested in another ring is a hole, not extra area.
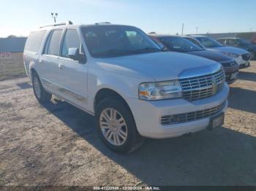
[(50, 101), (52, 95), (45, 91), (45, 88), (42, 87), (42, 83), (39, 79), (39, 76), (35, 72), (32, 75), (32, 85), (34, 96), (37, 98), (37, 101), (39, 101), (40, 104), (45, 104)]

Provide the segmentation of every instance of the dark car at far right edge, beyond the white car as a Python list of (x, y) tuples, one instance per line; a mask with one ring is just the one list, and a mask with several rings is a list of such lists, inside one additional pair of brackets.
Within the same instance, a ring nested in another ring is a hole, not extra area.
[(221, 43), (224, 46), (238, 47), (247, 50), (248, 52), (251, 52), (252, 58), (255, 58), (256, 56), (256, 44), (252, 44), (246, 39), (221, 38), (217, 39), (217, 42)]

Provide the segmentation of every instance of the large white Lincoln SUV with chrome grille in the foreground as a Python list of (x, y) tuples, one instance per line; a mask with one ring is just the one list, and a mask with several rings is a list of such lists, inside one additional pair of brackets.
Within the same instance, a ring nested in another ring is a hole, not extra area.
[[(115, 152), (224, 122), (229, 87), (217, 62), (162, 52), (143, 31), (112, 24), (54, 24), (32, 31), (24, 52), (39, 103), (53, 95), (94, 115)], [(86, 127), (84, 127), (86, 128)]]

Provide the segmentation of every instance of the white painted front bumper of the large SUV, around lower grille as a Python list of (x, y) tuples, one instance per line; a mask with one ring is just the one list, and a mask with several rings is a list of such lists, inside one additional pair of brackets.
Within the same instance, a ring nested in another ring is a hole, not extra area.
[(224, 103), (224, 106), (219, 113), (225, 112), (227, 109), (228, 93), (229, 87), (225, 83), (221, 92), (212, 97), (198, 101), (189, 102), (184, 99), (142, 101), (135, 98), (128, 98), (127, 101), (132, 110), (140, 135), (154, 139), (164, 139), (182, 136), (186, 133), (194, 133), (198, 130), (206, 129), (211, 117), (173, 125), (162, 125), (160, 122), (162, 116), (195, 112), (219, 106), (222, 103)]

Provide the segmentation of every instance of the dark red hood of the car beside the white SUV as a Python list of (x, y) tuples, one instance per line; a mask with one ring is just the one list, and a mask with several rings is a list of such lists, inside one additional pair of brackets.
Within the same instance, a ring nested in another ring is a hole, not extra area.
[(230, 61), (230, 58), (227, 57), (226, 55), (223, 55), (221, 52), (215, 52), (215, 51), (210, 51), (210, 50), (201, 50), (201, 51), (193, 51), (193, 52), (187, 52), (191, 55), (198, 55), (203, 58), (208, 58), (212, 61)]

